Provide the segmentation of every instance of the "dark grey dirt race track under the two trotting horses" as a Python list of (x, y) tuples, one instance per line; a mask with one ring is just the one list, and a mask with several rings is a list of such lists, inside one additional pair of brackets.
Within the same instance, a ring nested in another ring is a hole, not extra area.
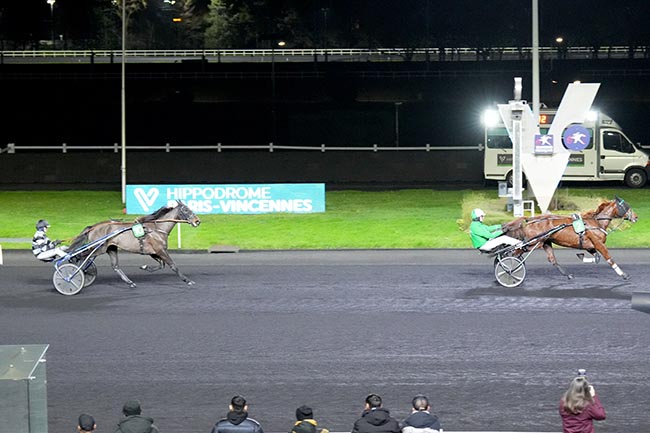
[(446, 431), (557, 432), (577, 368), (607, 410), (597, 431), (647, 432), (650, 314), (630, 297), (650, 291), (650, 250), (612, 253), (629, 281), (561, 250), (573, 280), (536, 252), (514, 289), (474, 250), (172, 253), (192, 287), (121, 255), (135, 289), (104, 256), (63, 296), (51, 264), (5, 250), (0, 344), (50, 345), (50, 433), (81, 412), (112, 432), (130, 398), (162, 433), (205, 433), (237, 393), (268, 432), (301, 404), (349, 431), (370, 392), (397, 418), (427, 394)]

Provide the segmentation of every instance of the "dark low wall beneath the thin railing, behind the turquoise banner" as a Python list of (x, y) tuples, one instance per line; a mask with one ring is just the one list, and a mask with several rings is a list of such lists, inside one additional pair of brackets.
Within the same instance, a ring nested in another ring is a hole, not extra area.
[[(0, 155), (3, 184), (53, 187), (121, 183), (120, 154)], [(483, 152), (172, 151), (127, 153), (127, 183), (433, 184), (483, 181)]]

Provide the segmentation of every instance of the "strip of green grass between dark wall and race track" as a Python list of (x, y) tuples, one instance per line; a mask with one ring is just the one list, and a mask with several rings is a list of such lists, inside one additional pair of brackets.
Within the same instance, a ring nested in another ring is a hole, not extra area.
[[(607, 239), (612, 248), (650, 246), (650, 189), (561, 188), (553, 205), (557, 214), (595, 209), (615, 195), (639, 216), (636, 224), (615, 220)], [(410, 189), (397, 191), (328, 191), (326, 212), (318, 214), (199, 215), (201, 225), (183, 225), (182, 247), (207, 250), (233, 245), (242, 250), (471, 248), (467, 227), (475, 207), (486, 223), (513, 219), (496, 188), (480, 190)], [(107, 219), (133, 220), (122, 214), (120, 192), (0, 192), (0, 239), (31, 239), (34, 225), (47, 219), (51, 239), (71, 239), (87, 225)], [(539, 210), (537, 210), (539, 212)], [(620, 224), (620, 225), (619, 225)], [(28, 249), (30, 242), (2, 242), (4, 249)], [(177, 248), (176, 229), (169, 247)]]

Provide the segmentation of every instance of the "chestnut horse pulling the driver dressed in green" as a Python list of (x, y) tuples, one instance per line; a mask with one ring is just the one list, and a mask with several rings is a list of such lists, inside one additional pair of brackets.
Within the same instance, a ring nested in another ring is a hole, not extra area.
[[(579, 223), (576, 224), (577, 229), (574, 228), (573, 222), (576, 220), (576, 217), (577, 215), (562, 216), (552, 214), (531, 218), (522, 217), (504, 224), (503, 231), (508, 236), (521, 239), (522, 241), (534, 240), (538, 236), (539, 241), (536, 243), (533, 242), (529, 246), (536, 247), (541, 244), (546, 252), (548, 261), (557, 267), (562, 275), (567, 276), (569, 279), (573, 278), (573, 276), (566, 273), (558, 264), (555, 253), (553, 252), (553, 244), (585, 250), (594, 256), (593, 259), (585, 259), (584, 261), (597, 263), (600, 260), (600, 256), (603, 256), (612, 269), (619, 276), (623, 277), (623, 279), (627, 280), (629, 275), (623, 272), (614, 260), (612, 260), (612, 256), (609, 254), (607, 247), (605, 247), (605, 242), (607, 241), (607, 227), (609, 227), (613, 219), (622, 218), (636, 222), (638, 219), (637, 215), (630, 205), (619, 197), (601, 203), (596, 210), (588, 211), (580, 215), (584, 223), (584, 230), (581, 230)], [(559, 228), (560, 226), (562, 228)], [(549, 236), (544, 235), (556, 227), (558, 227), (557, 231)], [(578, 257), (581, 257), (581, 255), (578, 254)]]

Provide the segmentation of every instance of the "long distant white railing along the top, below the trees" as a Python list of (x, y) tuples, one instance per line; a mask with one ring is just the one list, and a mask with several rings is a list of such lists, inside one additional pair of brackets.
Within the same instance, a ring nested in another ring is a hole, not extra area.
[[(593, 47), (539, 47), (543, 58), (559, 57), (567, 59), (585, 58), (648, 58), (649, 46), (605, 46), (596, 52)], [(314, 58), (333, 58), (336, 60), (520, 60), (532, 55), (531, 47), (458, 47), (458, 48), (328, 48), (328, 49), (251, 49), (251, 50), (126, 50), (128, 58), (148, 58), (176, 60), (179, 58), (210, 58), (224, 61), (304, 61)], [(78, 58), (113, 59), (121, 58), (121, 50), (20, 50), (0, 51), (3, 60), (7, 59), (58, 59)]]

